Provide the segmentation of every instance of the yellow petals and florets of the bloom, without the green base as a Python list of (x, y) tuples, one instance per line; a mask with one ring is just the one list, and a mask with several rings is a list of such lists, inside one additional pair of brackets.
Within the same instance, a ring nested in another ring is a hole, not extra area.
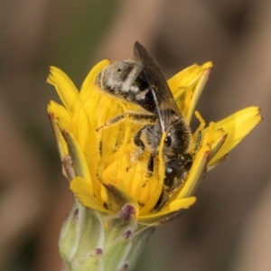
[[(169, 194), (163, 207), (155, 204), (164, 191), (164, 163), (160, 155), (154, 160), (154, 174), (147, 174), (148, 154), (139, 154), (133, 138), (145, 124), (125, 120), (97, 132), (109, 119), (126, 109), (140, 108), (118, 101), (98, 89), (96, 78), (109, 61), (99, 62), (76, 89), (69, 77), (51, 67), (47, 79), (56, 88), (63, 105), (51, 101), (48, 113), (57, 139), (64, 174), (70, 189), (85, 207), (116, 214), (125, 205), (134, 206), (139, 224), (159, 225), (189, 208), (196, 198), (196, 188), (207, 170), (224, 160), (229, 151), (257, 125), (261, 116), (258, 107), (248, 107), (205, 127), (196, 112), (200, 126), (193, 134), (192, 150), (201, 133), (201, 142), (194, 154), (192, 167), (182, 185)], [(191, 122), (201, 91), (208, 79), (211, 62), (192, 65), (168, 80), (170, 89), (187, 123)], [(163, 142), (163, 140), (161, 140)]]

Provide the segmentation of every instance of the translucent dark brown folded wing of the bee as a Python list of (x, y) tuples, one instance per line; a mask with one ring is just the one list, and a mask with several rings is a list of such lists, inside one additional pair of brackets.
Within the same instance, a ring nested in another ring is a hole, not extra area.
[(169, 126), (173, 112), (180, 118), (182, 118), (182, 113), (175, 103), (173, 94), (158, 63), (139, 42), (135, 42), (134, 56), (136, 62), (141, 62), (143, 79), (152, 89), (160, 126), (162, 132), (164, 132)]

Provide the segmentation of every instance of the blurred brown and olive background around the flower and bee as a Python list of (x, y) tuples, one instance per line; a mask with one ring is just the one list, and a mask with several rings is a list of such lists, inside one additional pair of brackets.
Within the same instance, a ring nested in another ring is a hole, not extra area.
[(264, 120), (207, 174), (198, 201), (156, 230), (136, 271), (271, 270), (268, 0), (0, 1), (0, 270), (60, 271), (73, 196), (46, 114), (49, 66), (75, 84), (105, 57), (145, 45), (167, 78), (214, 61), (198, 109), (207, 122), (248, 106)]

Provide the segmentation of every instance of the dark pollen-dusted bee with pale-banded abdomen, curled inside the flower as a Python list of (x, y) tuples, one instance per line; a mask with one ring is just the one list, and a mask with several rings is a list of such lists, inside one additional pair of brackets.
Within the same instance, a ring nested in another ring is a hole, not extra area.
[(162, 135), (165, 134), (162, 157), (164, 159), (164, 195), (157, 202), (155, 210), (161, 209), (166, 198), (181, 185), (192, 166), (192, 132), (186, 124), (173, 98), (164, 74), (149, 51), (139, 42), (134, 45), (135, 61), (118, 61), (100, 72), (97, 78), (99, 89), (115, 98), (126, 100), (145, 110), (126, 112), (109, 120), (111, 126), (125, 118), (133, 121), (146, 120), (135, 134), (134, 143), (151, 156), (148, 171), (154, 170), (154, 156), (158, 154)]

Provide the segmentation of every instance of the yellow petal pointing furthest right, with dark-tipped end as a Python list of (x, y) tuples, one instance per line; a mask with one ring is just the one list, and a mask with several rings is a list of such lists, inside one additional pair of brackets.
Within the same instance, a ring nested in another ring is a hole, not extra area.
[(248, 107), (229, 117), (215, 123), (214, 129), (222, 128), (228, 135), (219, 152), (210, 160), (209, 164), (215, 164), (222, 156), (238, 145), (238, 143), (259, 123), (262, 119), (259, 107)]

